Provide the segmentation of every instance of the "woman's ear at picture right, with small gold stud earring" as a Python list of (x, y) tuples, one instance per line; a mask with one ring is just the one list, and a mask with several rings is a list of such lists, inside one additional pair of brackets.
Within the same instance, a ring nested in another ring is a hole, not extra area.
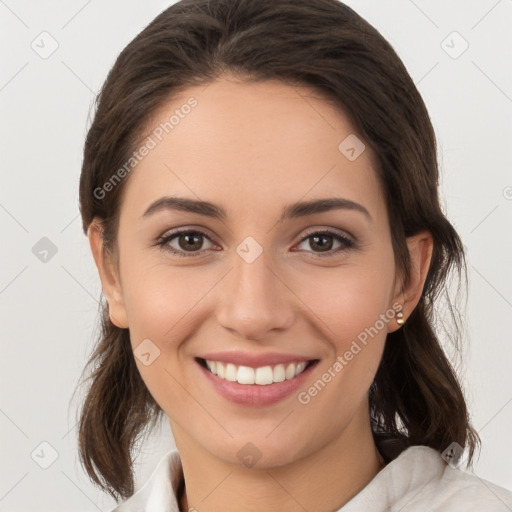
[[(434, 241), (432, 235), (428, 231), (422, 231), (414, 236), (407, 238), (407, 246), (409, 248), (409, 256), (411, 258), (411, 273), (409, 280), (404, 286), (400, 285), (399, 290), (395, 290), (396, 294), (393, 298), (393, 304), (400, 304), (402, 306), (404, 322), (413, 312), (418, 304), (425, 279), (427, 278), (428, 269), (430, 268), (430, 261), (432, 259), (432, 250), (434, 248)], [(395, 309), (395, 307), (393, 307)], [(396, 331), (401, 325), (395, 322), (388, 324), (388, 332)]]

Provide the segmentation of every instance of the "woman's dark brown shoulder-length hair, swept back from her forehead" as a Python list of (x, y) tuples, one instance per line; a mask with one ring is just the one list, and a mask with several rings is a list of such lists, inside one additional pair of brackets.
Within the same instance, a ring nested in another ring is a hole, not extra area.
[[(159, 107), (222, 73), (313, 86), (343, 109), (377, 156), (397, 268), (405, 278), (406, 237), (422, 230), (432, 234), (432, 261), (419, 304), (406, 324), (388, 335), (369, 391), (372, 425), (375, 436), (400, 440), (400, 449), (427, 445), (442, 452), (457, 442), (469, 448), (471, 461), (480, 440), (434, 331), (434, 304), (450, 272), (457, 270), (459, 281), (461, 272), (466, 277), (462, 242), (439, 203), (435, 134), (391, 45), (343, 3), (182, 0), (157, 16), (121, 52), (97, 98), (80, 177), (84, 232), (98, 217), (105, 248), (115, 252), (129, 177), (104, 197), (95, 191), (129, 159)], [(101, 314), (101, 336), (86, 366), (94, 370), (80, 413), (80, 460), (102, 489), (127, 498), (134, 491), (134, 445), (163, 411), (137, 370), (128, 329), (110, 321), (106, 302)], [(456, 347), (459, 338), (456, 322)]]

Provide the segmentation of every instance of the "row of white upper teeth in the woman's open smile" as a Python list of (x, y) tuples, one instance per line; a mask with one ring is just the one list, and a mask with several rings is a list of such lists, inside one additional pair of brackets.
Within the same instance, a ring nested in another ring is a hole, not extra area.
[(272, 366), (261, 366), (251, 368), (249, 366), (236, 366), (232, 363), (221, 363), (219, 361), (206, 360), (206, 366), (214, 375), (230, 382), (239, 384), (257, 384), (267, 386), (274, 382), (283, 382), (300, 375), (306, 368), (307, 363), (289, 363), (288, 365), (278, 364)]

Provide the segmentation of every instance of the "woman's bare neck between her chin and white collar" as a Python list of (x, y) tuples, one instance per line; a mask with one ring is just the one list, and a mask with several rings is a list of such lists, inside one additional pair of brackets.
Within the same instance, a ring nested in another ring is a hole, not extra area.
[[(174, 432), (174, 429), (173, 429)], [(204, 451), (180, 431), (176, 446), (185, 476), (182, 511), (338, 510), (382, 469), (367, 411), (307, 457), (276, 467), (248, 468)]]

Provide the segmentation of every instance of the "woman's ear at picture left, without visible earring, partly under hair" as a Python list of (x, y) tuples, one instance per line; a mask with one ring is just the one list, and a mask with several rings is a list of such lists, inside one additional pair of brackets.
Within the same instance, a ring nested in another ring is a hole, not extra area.
[(121, 283), (112, 257), (104, 250), (103, 226), (98, 218), (94, 218), (89, 225), (87, 237), (100, 275), (103, 293), (108, 302), (110, 320), (117, 327), (126, 329), (128, 328), (128, 316), (124, 305)]

